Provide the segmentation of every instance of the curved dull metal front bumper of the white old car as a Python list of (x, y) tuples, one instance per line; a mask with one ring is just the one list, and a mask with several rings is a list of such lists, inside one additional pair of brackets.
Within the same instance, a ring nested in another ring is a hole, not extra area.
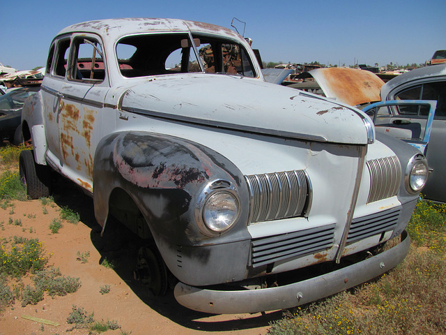
[(353, 288), (396, 267), (408, 254), (406, 231), (401, 243), (383, 253), (348, 267), (289, 285), (259, 290), (208, 290), (178, 283), (176, 300), (183, 306), (206, 313), (256, 313), (307, 304)]

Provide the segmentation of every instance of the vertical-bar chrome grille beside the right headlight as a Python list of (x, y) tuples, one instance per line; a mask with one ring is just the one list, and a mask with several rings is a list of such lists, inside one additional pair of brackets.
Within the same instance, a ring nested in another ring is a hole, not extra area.
[(370, 191), (367, 204), (397, 194), (401, 182), (401, 165), (397, 156), (367, 161), (370, 173)]

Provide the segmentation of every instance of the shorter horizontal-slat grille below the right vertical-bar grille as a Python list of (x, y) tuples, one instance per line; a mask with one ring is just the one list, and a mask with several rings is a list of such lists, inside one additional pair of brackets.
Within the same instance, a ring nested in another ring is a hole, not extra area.
[(347, 243), (394, 230), (400, 213), (401, 207), (397, 207), (362, 218), (354, 218), (348, 231)]

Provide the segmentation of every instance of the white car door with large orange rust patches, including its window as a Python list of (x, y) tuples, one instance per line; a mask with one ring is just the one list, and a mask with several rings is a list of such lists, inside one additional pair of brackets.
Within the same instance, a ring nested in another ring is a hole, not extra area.
[(73, 34), (66, 80), (59, 92), (61, 172), (93, 191), (93, 158), (102, 138), (102, 110), (109, 91), (102, 41), (94, 34)]

